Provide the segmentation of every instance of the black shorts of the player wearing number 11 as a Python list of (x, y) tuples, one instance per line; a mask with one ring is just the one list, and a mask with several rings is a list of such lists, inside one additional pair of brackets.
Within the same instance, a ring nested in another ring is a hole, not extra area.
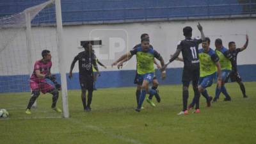
[(182, 72), (182, 83), (188, 85), (190, 81), (198, 84), (200, 77), (199, 67), (184, 67)]

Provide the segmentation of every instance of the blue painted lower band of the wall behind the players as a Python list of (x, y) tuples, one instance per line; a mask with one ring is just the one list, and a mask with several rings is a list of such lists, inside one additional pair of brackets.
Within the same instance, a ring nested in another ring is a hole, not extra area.
[[(243, 81), (256, 81), (256, 65), (239, 65), (238, 69)], [(97, 88), (135, 86), (135, 74), (135, 70), (101, 72), (96, 85)], [(168, 68), (167, 77), (163, 81), (160, 79), (160, 72), (156, 74), (160, 84), (181, 84), (182, 68)], [(57, 76), (60, 81), (60, 75)], [(74, 73), (72, 79), (68, 79), (67, 75), (68, 90), (80, 89), (78, 77), (78, 73)], [(0, 93), (29, 91), (29, 76), (0, 76)]]

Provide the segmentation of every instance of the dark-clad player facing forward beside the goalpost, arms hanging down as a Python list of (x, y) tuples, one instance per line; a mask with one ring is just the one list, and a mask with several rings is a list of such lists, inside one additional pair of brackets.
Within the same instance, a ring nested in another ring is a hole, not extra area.
[[(83, 45), (84, 51), (80, 52), (72, 61), (69, 78), (72, 78), (72, 70), (76, 64), (79, 62), (79, 81), (81, 86), (81, 98), (83, 102), (83, 107), (85, 111), (91, 111), (92, 103), (92, 92), (93, 92), (93, 67), (98, 71), (96, 56), (92, 52), (92, 44), (87, 42)], [(88, 90), (88, 102), (86, 105), (86, 90)]]

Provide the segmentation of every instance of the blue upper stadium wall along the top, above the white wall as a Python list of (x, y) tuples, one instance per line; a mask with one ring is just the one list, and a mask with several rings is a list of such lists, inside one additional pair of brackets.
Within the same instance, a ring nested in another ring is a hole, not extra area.
[[(0, 17), (22, 12), (47, 0), (1, 0)], [(214, 16), (234, 16), (256, 13), (256, 0), (61, 0), (63, 24), (88, 22), (129, 22), (152, 19), (208, 19)], [(51, 22), (43, 17), (53, 9), (40, 12), (38, 22)], [(45, 20), (44, 20), (45, 19)], [(52, 19), (52, 20), (49, 20)]]

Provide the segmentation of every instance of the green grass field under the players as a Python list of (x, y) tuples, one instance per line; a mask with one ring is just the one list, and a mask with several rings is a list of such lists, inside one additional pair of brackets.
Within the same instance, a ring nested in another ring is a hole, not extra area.
[[(161, 103), (151, 108), (144, 102), (140, 113), (134, 111), (135, 88), (99, 89), (93, 93), (89, 113), (83, 111), (80, 91), (72, 90), (68, 92), (70, 118), (60, 118), (61, 114), (51, 110), (51, 95), (40, 95), (38, 108), (26, 115), (29, 93), (2, 93), (0, 108), (8, 109), (10, 118), (0, 120), (0, 143), (254, 144), (256, 82), (244, 84), (248, 99), (242, 98), (238, 84), (228, 83), (232, 102), (223, 102), (221, 95), (212, 108), (206, 108), (201, 97), (201, 113), (186, 116), (176, 115), (182, 108), (180, 85), (159, 86)], [(214, 87), (208, 89), (210, 95)]]

